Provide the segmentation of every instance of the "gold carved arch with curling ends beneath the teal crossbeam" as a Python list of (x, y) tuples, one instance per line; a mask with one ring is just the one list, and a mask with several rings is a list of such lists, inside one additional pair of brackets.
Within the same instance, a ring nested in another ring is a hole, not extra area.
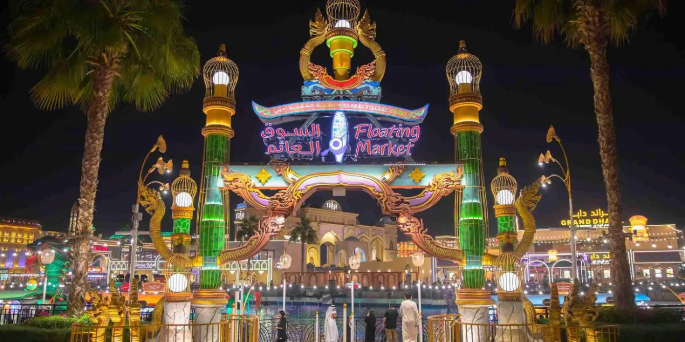
[[(441, 256), (438, 257), (440, 259), (456, 262), (463, 259), (463, 253), (460, 250), (438, 246), (434, 239), (425, 233), (423, 224), (412, 218), (410, 214), (432, 207), (440, 198), (451, 194), (460, 187), (463, 175), (461, 167), (458, 167), (457, 172), (436, 174), (428, 187), (423, 189), (420, 194), (412, 197), (404, 197), (393, 192), (388, 183), (375, 177), (345, 171), (321, 172), (301, 176), (290, 183), (286, 189), (282, 189), (273, 196), (266, 196), (260, 189), (256, 189), (251, 178), (245, 174), (234, 173), (228, 168), (224, 168), (221, 175), (223, 176), (224, 189), (235, 192), (252, 207), (266, 209), (267, 214), (260, 219), (260, 230), (256, 235), (250, 237), (245, 244), (231, 250), (225, 250), (219, 255), (219, 265), (251, 257), (266, 245), (272, 235), (276, 236), (281, 231), (286, 215), (297, 215), (299, 207), (308, 196), (319, 189), (339, 186), (360, 189), (378, 200), (385, 215), (399, 215), (398, 222), (400, 220), (405, 222), (403, 232), (410, 235), (414, 243), (421, 241), (419, 248), (425, 252), (436, 257), (439, 255)], [(337, 176), (338, 179), (343, 180), (352, 179), (353, 181), (347, 183), (342, 181), (336, 184), (314, 181), (317, 177), (331, 179), (331, 176)], [(410, 204), (412, 202), (415, 204)]]

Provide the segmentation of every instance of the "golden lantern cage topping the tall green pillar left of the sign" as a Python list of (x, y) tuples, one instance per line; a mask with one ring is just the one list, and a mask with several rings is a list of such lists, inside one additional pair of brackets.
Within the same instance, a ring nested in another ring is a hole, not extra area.
[(226, 45), (219, 45), (219, 53), (208, 60), (202, 68), (205, 80), (205, 98), (214, 96), (230, 98), (235, 105), (236, 84), (238, 83), (238, 66), (226, 57)]

